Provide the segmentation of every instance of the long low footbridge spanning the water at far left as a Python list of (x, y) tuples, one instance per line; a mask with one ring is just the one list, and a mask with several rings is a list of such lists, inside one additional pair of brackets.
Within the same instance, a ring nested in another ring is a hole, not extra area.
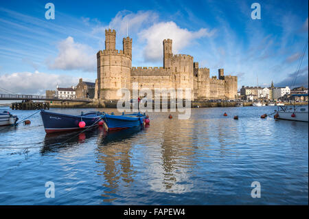
[(0, 93), (0, 100), (42, 100), (42, 101), (61, 101), (61, 102), (92, 102), (91, 99), (59, 99), (54, 96), (45, 96), (45, 95), (25, 95), (25, 94), (5, 94)]

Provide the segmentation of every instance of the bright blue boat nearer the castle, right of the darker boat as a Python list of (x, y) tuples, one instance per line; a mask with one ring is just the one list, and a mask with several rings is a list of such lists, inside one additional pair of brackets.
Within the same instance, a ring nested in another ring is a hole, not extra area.
[(122, 130), (126, 128), (143, 126), (146, 115), (141, 113), (133, 113), (126, 115), (124, 113), (122, 113), (122, 115), (103, 113), (102, 118), (108, 126), (108, 130)]

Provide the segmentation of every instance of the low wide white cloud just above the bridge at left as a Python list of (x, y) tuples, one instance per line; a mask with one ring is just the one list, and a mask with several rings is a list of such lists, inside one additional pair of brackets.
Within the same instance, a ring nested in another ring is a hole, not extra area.
[(18, 72), (0, 75), (1, 88), (14, 93), (44, 95), (45, 90), (71, 87), (78, 84), (78, 78), (53, 73)]

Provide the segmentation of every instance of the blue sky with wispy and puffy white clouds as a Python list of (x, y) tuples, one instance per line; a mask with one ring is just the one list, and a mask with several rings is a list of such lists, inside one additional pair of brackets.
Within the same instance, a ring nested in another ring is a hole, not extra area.
[[(46, 3), (55, 19), (45, 19)], [(252, 3), (261, 19), (251, 19)], [(128, 27), (128, 28), (127, 28)], [(238, 76), (245, 86), (308, 87), (308, 1), (0, 1), (0, 93), (44, 94), (95, 82), (104, 30), (133, 38), (133, 67), (163, 66), (164, 38), (174, 54)], [(296, 78), (297, 74), (297, 78)], [(296, 82), (293, 81), (296, 78)]]

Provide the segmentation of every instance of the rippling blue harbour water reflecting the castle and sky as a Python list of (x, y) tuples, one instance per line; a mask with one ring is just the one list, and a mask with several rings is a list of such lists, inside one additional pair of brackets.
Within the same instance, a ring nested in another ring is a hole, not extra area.
[[(260, 119), (274, 109), (149, 113), (148, 128), (107, 135), (46, 135), (36, 114), (30, 126), (0, 128), (0, 205), (308, 205), (308, 123)], [(47, 181), (55, 198), (45, 198)], [(261, 198), (251, 197), (253, 181)]]

